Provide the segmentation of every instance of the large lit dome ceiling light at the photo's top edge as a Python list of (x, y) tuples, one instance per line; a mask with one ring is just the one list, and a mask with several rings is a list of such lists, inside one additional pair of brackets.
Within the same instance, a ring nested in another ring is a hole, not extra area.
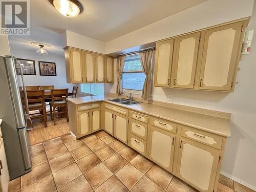
[(75, 17), (83, 11), (82, 4), (77, 0), (49, 0), (57, 11), (67, 17)]

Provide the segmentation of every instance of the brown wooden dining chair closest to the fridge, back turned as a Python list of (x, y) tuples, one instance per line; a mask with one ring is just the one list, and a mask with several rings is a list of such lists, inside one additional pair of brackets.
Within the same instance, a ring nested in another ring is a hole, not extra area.
[(45, 90), (28, 90), (27, 97), (29, 111), (39, 110), (39, 115), (33, 114), (30, 115), (30, 118), (42, 118), (44, 120), (45, 127), (47, 127)]

